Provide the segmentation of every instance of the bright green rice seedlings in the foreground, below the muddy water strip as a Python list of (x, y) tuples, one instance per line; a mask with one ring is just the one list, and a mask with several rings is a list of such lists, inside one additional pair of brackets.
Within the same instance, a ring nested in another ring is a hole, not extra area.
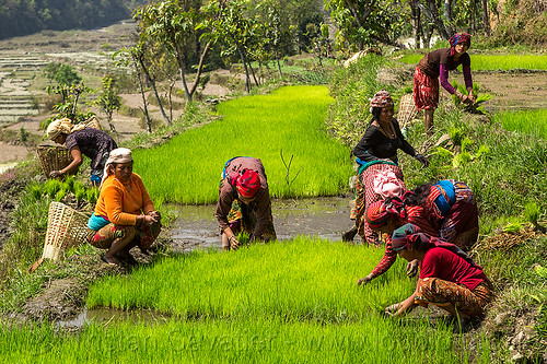
[[(44, 326), (2, 333), (7, 359), (159, 362), (463, 363), (444, 321), (395, 320), (385, 305), (412, 292), (403, 261), (365, 286), (353, 283), (382, 250), (307, 237), (284, 244), (168, 258), (91, 287), (88, 306), (154, 308), (173, 319), (103, 327), (78, 336)], [(159, 279), (161, 278), (161, 279)], [(465, 340), (461, 341), (466, 345)], [(476, 362), (488, 362), (486, 340)], [(34, 355), (39, 353), (39, 355)], [(14, 356), (10, 356), (14, 355)]]

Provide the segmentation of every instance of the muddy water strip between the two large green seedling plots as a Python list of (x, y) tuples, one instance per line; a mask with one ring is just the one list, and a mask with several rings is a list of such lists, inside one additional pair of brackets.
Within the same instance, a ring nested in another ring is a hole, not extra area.
[[(272, 200), (274, 225), (278, 239), (296, 235), (314, 235), (340, 240), (342, 232), (352, 226), (349, 220), (350, 198), (313, 198)], [(214, 204), (171, 206), (176, 214), (170, 235), (177, 253), (196, 248), (220, 249), (219, 225)]]

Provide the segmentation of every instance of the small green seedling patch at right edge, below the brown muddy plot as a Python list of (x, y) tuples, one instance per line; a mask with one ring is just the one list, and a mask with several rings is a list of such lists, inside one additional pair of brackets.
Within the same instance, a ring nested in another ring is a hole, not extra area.
[(493, 116), (503, 129), (534, 134), (547, 139), (547, 109), (501, 111)]

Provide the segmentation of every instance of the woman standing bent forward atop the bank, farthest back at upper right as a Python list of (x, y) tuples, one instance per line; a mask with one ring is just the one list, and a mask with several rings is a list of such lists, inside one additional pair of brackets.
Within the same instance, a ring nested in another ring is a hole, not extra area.
[[(414, 101), (418, 110), (423, 109), (423, 122), (428, 134), (433, 133), (433, 114), (439, 104), (439, 81), (451, 95), (456, 95), (464, 103), (475, 103), (473, 94), (472, 60), (467, 49), (472, 36), (456, 33), (450, 38), (450, 48), (442, 48), (427, 54), (416, 67), (414, 74)], [(465, 87), (468, 95), (456, 91), (449, 82), (449, 71), (462, 64)]]

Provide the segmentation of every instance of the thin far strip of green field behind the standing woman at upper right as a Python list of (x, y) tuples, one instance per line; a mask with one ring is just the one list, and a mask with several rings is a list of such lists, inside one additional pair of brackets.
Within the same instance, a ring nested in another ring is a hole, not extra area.
[[(472, 70), (497, 71), (497, 70), (547, 70), (547, 57), (544, 55), (474, 55), (472, 57)], [(422, 59), (423, 54), (406, 55), (400, 60), (415, 64)], [(461, 67), (459, 67), (461, 68)]]

